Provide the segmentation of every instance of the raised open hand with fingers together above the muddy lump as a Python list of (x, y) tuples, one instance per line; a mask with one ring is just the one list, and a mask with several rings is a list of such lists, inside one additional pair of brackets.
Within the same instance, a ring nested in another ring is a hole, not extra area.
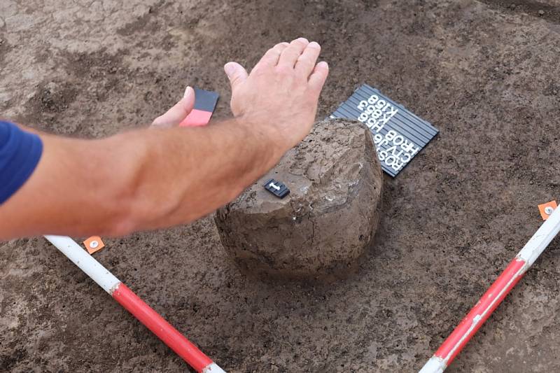
[(311, 131), (328, 64), (316, 64), (321, 46), (306, 38), (269, 49), (250, 74), (237, 62), (225, 73), (232, 86), (232, 113), (250, 130), (265, 131), (285, 152)]

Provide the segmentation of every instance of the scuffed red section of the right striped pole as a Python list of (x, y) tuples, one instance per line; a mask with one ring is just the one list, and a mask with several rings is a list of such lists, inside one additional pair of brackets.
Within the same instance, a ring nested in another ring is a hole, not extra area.
[(482, 295), (475, 307), (472, 307), (463, 321), (457, 325), (455, 330), (445, 339), (440, 348), (435, 351), (435, 356), (445, 360), (446, 365), (457, 356), (465, 344), (479, 330), (484, 322), (490, 317), (492, 312), (503, 301), (507, 293), (523, 277), (524, 260), (515, 258), (507, 265), (507, 268), (494, 281), (486, 293)]

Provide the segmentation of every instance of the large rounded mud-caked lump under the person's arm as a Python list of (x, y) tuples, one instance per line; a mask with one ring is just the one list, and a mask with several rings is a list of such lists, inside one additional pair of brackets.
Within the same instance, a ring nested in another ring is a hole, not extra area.
[[(265, 190), (274, 178), (290, 194)], [(369, 246), (383, 175), (360, 122), (324, 120), (238, 199), (216, 213), (225, 251), (260, 278), (341, 277)]]

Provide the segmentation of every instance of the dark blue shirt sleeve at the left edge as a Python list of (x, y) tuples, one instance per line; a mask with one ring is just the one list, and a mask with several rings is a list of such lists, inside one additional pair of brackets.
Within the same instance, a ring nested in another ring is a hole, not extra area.
[(42, 154), (43, 141), (39, 136), (0, 120), (0, 204), (33, 174)]

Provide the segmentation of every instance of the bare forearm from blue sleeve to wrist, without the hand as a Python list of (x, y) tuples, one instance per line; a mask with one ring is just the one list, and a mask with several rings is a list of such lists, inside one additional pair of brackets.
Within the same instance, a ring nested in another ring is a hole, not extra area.
[(283, 153), (242, 120), (99, 140), (42, 135), (41, 162), (0, 207), (0, 239), (120, 236), (189, 223), (234, 199)]

